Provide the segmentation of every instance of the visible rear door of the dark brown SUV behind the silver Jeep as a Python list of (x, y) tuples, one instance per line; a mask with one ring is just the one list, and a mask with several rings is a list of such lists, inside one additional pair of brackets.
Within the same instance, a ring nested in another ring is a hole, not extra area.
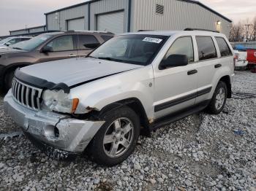
[(88, 55), (93, 48), (90, 48), (93, 44), (100, 44), (99, 40), (92, 34), (78, 34), (78, 55), (80, 57)]

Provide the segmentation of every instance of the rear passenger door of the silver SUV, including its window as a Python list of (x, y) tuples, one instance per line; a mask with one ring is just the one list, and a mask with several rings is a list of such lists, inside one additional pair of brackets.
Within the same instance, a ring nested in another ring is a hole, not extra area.
[(221, 63), (217, 55), (217, 47), (212, 36), (195, 36), (197, 44), (197, 98), (196, 104), (208, 99), (209, 93), (214, 91), (214, 75)]

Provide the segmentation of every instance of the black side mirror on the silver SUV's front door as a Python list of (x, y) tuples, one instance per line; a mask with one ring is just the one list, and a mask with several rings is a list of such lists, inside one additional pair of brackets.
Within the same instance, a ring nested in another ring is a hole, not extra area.
[(162, 60), (159, 69), (167, 69), (176, 66), (187, 66), (189, 60), (187, 55), (169, 55), (168, 58)]

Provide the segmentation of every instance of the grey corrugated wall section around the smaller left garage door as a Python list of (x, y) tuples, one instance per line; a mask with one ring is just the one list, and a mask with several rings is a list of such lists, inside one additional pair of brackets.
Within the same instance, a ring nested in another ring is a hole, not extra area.
[(67, 20), (85, 17), (85, 30), (88, 30), (88, 4), (53, 12), (47, 17), (48, 30), (67, 30)]

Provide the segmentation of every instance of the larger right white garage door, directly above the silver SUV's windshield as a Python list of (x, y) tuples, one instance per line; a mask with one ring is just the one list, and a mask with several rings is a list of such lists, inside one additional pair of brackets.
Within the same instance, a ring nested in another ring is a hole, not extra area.
[(97, 16), (97, 30), (114, 34), (124, 32), (124, 12), (113, 12)]

